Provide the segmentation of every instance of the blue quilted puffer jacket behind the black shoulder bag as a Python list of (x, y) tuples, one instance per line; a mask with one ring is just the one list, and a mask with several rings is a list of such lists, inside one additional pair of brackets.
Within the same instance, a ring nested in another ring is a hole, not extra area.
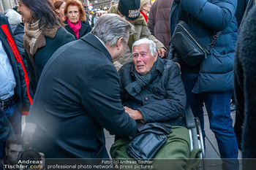
[[(181, 9), (189, 12), (188, 26), (206, 45), (210, 45), (217, 31), (222, 31), (207, 58), (197, 66), (188, 66), (180, 55), (173, 58), (173, 61), (181, 63), (181, 72), (185, 70), (199, 73), (193, 93), (233, 90), (233, 61), (238, 37), (236, 4), (237, 0), (182, 0), (181, 4), (176, 0), (173, 1), (170, 12), (171, 34), (181, 15)], [(169, 58), (172, 57), (172, 50), (170, 50)]]

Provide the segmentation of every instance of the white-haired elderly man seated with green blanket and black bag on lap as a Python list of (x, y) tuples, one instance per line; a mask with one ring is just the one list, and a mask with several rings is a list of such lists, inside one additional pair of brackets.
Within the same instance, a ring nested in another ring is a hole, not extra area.
[(110, 155), (136, 160), (174, 158), (178, 163), (153, 163), (150, 169), (188, 169), (191, 152), (184, 123), (187, 99), (179, 67), (159, 58), (155, 43), (149, 39), (132, 45), (132, 57), (133, 62), (118, 73), (121, 101), (129, 116), (137, 120), (138, 135), (129, 140), (116, 137)]

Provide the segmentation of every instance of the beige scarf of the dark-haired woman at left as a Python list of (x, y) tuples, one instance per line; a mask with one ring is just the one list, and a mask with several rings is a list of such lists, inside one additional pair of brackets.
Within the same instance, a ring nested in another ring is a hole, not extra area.
[(24, 26), (24, 40), (29, 45), (29, 53), (31, 55), (34, 55), (36, 53), (37, 49), (35, 49), (35, 45), (37, 42), (37, 39), (40, 35), (42, 35), (42, 30), (39, 29), (39, 20), (37, 20), (36, 23), (25, 23)]

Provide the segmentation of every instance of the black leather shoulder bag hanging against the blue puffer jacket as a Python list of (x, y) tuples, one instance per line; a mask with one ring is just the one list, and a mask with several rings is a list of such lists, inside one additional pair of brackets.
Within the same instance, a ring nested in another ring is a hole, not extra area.
[(211, 46), (205, 45), (189, 26), (187, 26), (187, 23), (180, 20), (173, 32), (173, 37), (170, 39), (170, 43), (173, 45), (173, 49), (181, 55), (189, 66), (196, 66), (203, 61), (203, 58), (207, 58), (210, 48), (214, 46), (220, 33), (221, 31), (214, 35), (214, 40), (211, 42)]

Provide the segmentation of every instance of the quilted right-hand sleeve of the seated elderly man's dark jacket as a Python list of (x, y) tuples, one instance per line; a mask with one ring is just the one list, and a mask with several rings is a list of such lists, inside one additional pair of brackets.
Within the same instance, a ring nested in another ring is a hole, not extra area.
[[(171, 62), (170, 68), (163, 72), (165, 80), (165, 98), (154, 98), (151, 103), (139, 107), (145, 123), (172, 120), (181, 117), (187, 102), (184, 85), (181, 80), (180, 69), (176, 63)], [(160, 81), (162, 81), (160, 79)]]

